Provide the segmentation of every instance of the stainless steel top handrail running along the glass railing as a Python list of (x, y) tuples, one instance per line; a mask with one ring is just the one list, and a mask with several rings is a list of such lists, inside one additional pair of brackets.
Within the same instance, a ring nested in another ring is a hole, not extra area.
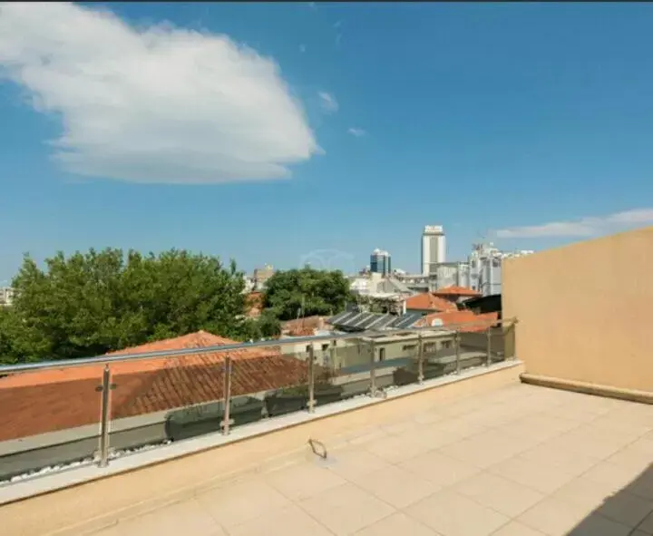
[[(142, 359), (152, 359), (155, 357), (180, 357), (180, 356), (194, 356), (198, 354), (211, 354), (211, 353), (233, 353), (236, 351), (245, 351), (252, 348), (262, 347), (276, 347), (286, 345), (297, 345), (303, 343), (314, 343), (320, 341), (335, 341), (352, 338), (362, 338), (369, 336), (393, 336), (399, 333), (415, 333), (419, 335), (425, 331), (443, 331), (455, 332), (464, 327), (472, 326), (502, 326), (504, 324), (514, 324), (517, 322), (516, 318), (503, 318), (500, 320), (484, 320), (478, 322), (467, 322), (462, 324), (451, 324), (449, 326), (424, 326), (424, 327), (411, 327), (406, 329), (384, 329), (384, 330), (370, 330), (360, 331), (355, 333), (344, 333), (338, 335), (318, 335), (318, 336), (297, 336), (292, 339), (277, 339), (275, 341), (257, 341), (254, 343), (241, 343), (237, 345), (219, 345), (219, 346), (206, 346), (202, 348), (189, 348), (182, 350), (161, 350), (159, 352), (143, 352), (137, 354), (122, 354), (120, 356), (93, 356), (93, 357), (80, 357), (78, 359), (60, 359), (53, 361), (39, 361), (34, 363), (22, 363), (19, 365), (0, 365), (0, 375), (16, 374), (21, 372), (33, 372), (37, 370), (52, 370), (58, 368), (68, 368), (72, 366), (84, 365), (111, 365), (112, 363), (121, 363), (122, 361), (137, 361)], [(1, 380), (0, 380), (1, 381)]]

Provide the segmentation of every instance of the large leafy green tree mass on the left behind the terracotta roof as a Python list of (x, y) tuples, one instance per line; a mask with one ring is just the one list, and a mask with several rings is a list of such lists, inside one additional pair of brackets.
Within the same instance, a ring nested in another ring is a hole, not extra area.
[(24, 263), (14, 279), (7, 325), (21, 361), (93, 356), (205, 329), (249, 335), (245, 282), (232, 261), (172, 249), (144, 256), (121, 249), (58, 253), (38, 268)]

